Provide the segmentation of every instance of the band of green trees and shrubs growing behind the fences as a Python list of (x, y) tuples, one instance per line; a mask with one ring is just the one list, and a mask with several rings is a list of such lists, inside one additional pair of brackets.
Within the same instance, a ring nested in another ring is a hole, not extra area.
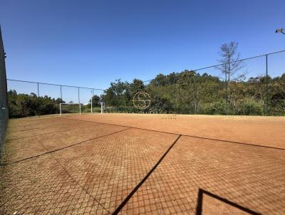
[[(110, 83), (103, 95), (93, 96), (93, 112), (100, 112), (100, 101), (105, 103), (107, 112), (153, 112), (209, 115), (285, 115), (285, 74), (280, 77), (252, 77), (249, 80), (232, 80), (228, 85), (218, 77), (195, 71), (159, 74), (145, 84), (134, 79), (132, 83), (120, 79)], [(133, 96), (147, 92), (151, 105), (139, 110), (133, 105)], [(48, 96), (37, 97), (8, 92), (9, 116), (25, 117), (58, 113), (58, 104), (63, 100)], [(227, 103), (226, 103), (227, 98)], [(76, 106), (77, 107), (77, 106)], [(70, 112), (74, 112), (70, 110)], [(81, 112), (90, 112), (90, 104), (81, 106)]]

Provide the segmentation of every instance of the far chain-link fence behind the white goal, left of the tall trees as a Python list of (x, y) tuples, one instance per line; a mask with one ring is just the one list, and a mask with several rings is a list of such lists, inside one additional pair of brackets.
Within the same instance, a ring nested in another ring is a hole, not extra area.
[(104, 90), (26, 80), (7, 81), (9, 117), (101, 112)]

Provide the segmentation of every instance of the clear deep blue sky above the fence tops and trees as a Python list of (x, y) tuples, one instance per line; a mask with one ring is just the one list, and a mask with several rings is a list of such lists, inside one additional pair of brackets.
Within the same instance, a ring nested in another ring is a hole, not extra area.
[(285, 1), (2, 1), (7, 76), (106, 88), (285, 49)]

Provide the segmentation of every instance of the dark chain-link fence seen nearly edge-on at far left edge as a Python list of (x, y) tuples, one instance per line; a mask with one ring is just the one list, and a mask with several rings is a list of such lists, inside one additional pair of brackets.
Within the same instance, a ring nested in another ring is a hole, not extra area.
[(0, 28), (0, 157), (1, 149), (5, 138), (5, 132), (8, 122), (7, 107), (7, 84), (6, 84), (6, 68), (5, 68), (5, 52)]

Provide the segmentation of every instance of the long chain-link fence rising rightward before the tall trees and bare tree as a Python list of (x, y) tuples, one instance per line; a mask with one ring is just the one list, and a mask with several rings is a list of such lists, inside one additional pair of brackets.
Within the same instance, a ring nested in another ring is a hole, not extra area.
[[(116, 80), (104, 100), (113, 112), (207, 115), (285, 115), (285, 51), (195, 70), (159, 74), (148, 81)], [(150, 95), (151, 104), (144, 110)], [(112, 107), (112, 108), (110, 108)]]

